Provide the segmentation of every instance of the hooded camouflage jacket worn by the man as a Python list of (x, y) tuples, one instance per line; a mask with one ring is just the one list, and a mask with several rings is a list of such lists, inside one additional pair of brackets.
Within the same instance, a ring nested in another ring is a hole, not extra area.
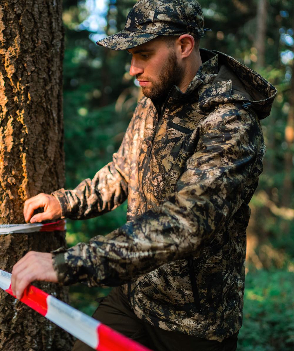
[(71, 219), (128, 199), (127, 223), (53, 257), (61, 284), (123, 285), (147, 323), (222, 341), (242, 324), (248, 203), (265, 154), (259, 119), (276, 90), (225, 54), (201, 56), (186, 93), (174, 86), (162, 109), (139, 101), (111, 163), (53, 193)]

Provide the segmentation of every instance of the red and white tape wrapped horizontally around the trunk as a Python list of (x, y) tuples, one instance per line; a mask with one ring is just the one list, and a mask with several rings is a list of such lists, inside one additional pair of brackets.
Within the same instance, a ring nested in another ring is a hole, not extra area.
[(53, 223), (27, 223), (27, 224), (1, 224), (0, 234), (11, 233), (33, 233), (33, 232), (53, 232), (54, 230), (66, 230), (66, 221), (61, 219)]

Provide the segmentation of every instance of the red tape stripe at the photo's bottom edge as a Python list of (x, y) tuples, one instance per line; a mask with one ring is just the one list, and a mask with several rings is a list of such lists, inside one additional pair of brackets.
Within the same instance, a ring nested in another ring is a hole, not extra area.
[(100, 324), (97, 327), (99, 344), (96, 350), (99, 351), (151, 351), (147, 347), (127, 338), (116, 332), (107, 325)]

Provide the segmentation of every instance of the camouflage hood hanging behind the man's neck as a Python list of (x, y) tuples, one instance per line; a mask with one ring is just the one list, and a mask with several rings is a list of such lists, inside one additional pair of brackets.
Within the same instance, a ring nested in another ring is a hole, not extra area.
[(218, 51), (200, 49), (203, 64), (187, 91), (175, 87), (173, 100), (183, 99), (198, 88), (199, 107), (209, 111), (216, 105), (242, 101), (255, 110), (259, 119), (270, 114), (276, 88), (260, 74)]

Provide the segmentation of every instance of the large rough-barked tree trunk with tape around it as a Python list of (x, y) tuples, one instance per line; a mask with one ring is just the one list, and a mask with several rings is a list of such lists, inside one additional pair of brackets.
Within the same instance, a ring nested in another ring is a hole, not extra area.
[[(62, 0), (0, 0), (0, 224), (24, 223), (23, 204), (64, 184)], [(0, 236), (8, 272), (30, 250), (65, 245), (65, 232)], [(36, 286), (67, 300), (56, 284)], [(0, 349), (69, 350), (72, 337), (0, 292)]]

